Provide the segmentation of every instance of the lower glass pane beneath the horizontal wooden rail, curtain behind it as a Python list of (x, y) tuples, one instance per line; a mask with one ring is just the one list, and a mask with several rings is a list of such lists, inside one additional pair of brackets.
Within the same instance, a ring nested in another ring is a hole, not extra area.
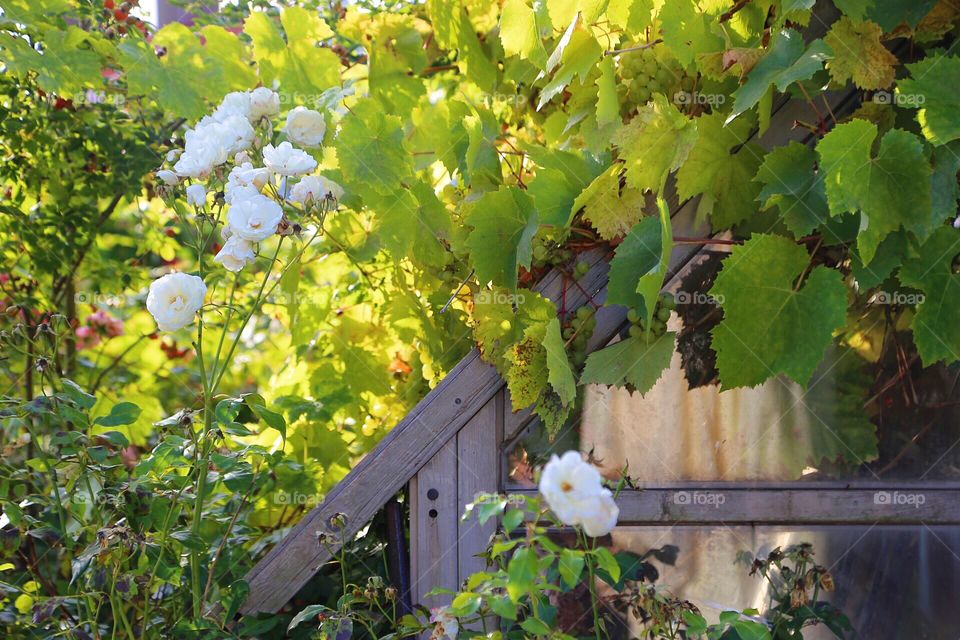
[[(691, 601), (708, 620), (723, 610), (769, 605), (767, 583), (750, 576), (741, 552), (759, 557), (776, 547), (813, 545), (815, 561), (834, 577), (824, 598), (849, 619), (856, 638), (960, 637), (960, 531), (913, 527), (643, 527), (613, 533), (613, 551), (643, 555), (675, 545), (673, 566), (657, 560), (657, 585)], [(660, 554), (661, 556), (664, 554)], [(669, 554), (667, 554), (669, 555)], [(628, 621), (631, 636), (639, 625)], [(824, 627), (804, 630), (807, 640), (834, 636)]]

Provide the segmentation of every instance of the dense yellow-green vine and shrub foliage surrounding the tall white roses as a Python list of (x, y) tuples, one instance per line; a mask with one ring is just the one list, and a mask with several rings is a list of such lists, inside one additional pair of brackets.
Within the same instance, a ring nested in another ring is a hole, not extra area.
[[(259, 552), (475, 344), (555, 433), (584, 384), (652, 388), (672, 312), (709, 299), (708, 379), (836, 382), (814, 463), (876, 456), (867, 367), (960, 359), (952, 3), (299, 4), (153, 31), (130, 3), (0, 1), (8, 628), (222, 624)], [(217, 217), (151, 171), (258, 85), (323, 114), (310, 151), (344, 191), (309, 252), (271, 245), (227, 299)], [(678, 201), (721, 237), (674, 233)], [(715, 280), (661, 294), (675, 249), (712, 242)], [(633, 328), (588, 355), (601, 305), (533, 287), (578, 287), (597, 253)], [(218, 333), (156, 330), (170, 271), (224, 294)]]

